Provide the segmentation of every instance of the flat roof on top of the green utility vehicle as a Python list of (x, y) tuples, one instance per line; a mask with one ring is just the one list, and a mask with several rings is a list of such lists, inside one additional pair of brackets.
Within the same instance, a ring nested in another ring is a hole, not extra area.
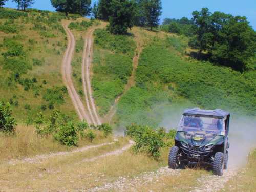
[(230, 115), (230, 113), (220, 109), (201, 110), (200, 108), (188, 108), (183, 112), (183, 115), (205, 115), (225, 118), (226, 116)]

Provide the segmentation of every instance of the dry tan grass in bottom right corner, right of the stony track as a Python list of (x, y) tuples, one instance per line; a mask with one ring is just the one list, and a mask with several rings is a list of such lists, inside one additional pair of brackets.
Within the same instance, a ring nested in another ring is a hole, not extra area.
[(249, 155), (246, 168), (238, 172), (236, 178), (228, 181), (221, 191), (255, 191), (256, 188), (256, 151)]

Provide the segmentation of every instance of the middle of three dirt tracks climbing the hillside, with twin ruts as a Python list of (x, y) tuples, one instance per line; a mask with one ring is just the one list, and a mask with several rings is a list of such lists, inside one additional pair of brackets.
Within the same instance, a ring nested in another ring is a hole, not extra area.
[(83, 91), (84, 97), (86, 99), (87, 109), (89, 111), (92, 123), (94, 125), (100, 125), (101, 121), (99, 119), (95, 102), (92, 96), (92, 87), (91, 87), (91, 77), (90, 77), (90, 66), (92, 62), (93, 55), (93, 32), (95, 28), (90, 29), (85, 37), (84, 41), (84, 52), (82, 59), (82, 82), (83, 82)]

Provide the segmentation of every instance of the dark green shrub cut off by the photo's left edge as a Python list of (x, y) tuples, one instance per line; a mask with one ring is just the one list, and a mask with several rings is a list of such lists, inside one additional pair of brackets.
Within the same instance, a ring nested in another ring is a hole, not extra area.
[(0, 131), (15, 133), (16, 121), (12, 116), (9, 103), (0, 102)]

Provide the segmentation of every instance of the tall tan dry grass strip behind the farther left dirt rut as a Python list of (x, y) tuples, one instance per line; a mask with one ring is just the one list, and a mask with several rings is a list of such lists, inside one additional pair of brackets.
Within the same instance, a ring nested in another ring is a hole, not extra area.
[[(91, 143), (87, 139), (79, 139), (78, 147), (108, 143), (113, 137), (105, 138), (101, 132)], [(16, 158), (32, 157), (51, 152), (71, 151), (77, 147), (67, 147), (54, 140), (53, 136), (39, 137), (32, 126), (18, 125), (15, 136), (0, 135), (0, 162)]]

